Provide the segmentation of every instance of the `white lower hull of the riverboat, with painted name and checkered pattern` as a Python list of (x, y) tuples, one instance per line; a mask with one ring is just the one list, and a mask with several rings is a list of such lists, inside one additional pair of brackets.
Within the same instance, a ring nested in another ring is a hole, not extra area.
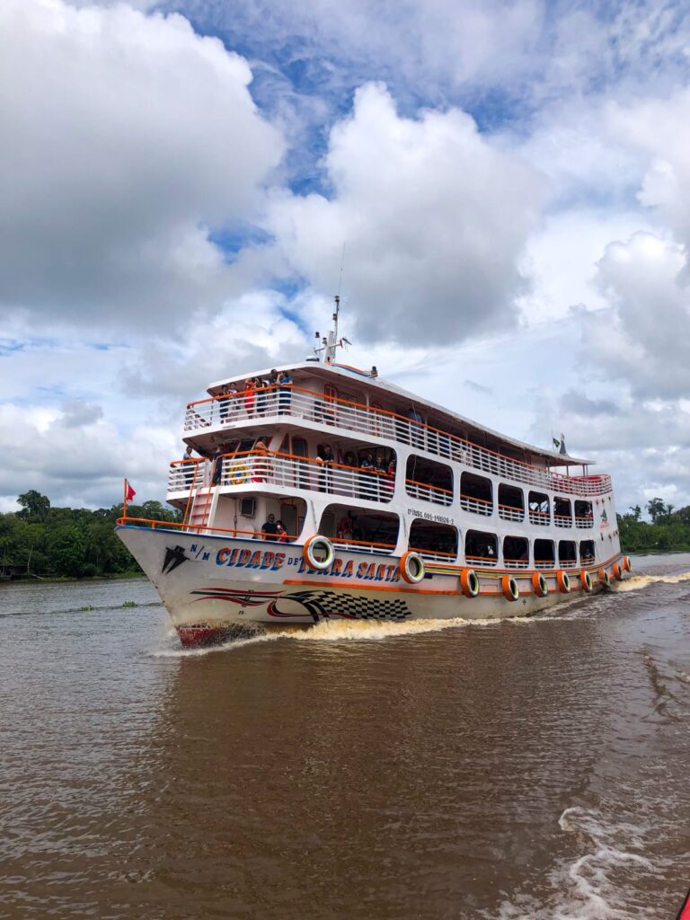
[[(534, 615), (579, 594), (558, 587), (557, 573), (545, 571), (548, 592), (535, 594), (534, 570), (477, 570), (479, 593), (467, 597), (458, 573), (431, 572), (419, 584), (400, 576), (398, 558), (371, 552), (338, 551), (325, 571), (305, 564), (303, 547), (226, 536), (120, 525), (117, 533), (153, 582), (185, 646), (224, 641), (247, 632), (315, 624), (323, 619), (404, 622), (410, 619), (487, 619)], [(608, 560), (611, 571), (618, 557)], [(603, 585), (589, 568), (593, 592)], [(501, 579), (515, 579), (516, 601), (503, 594)]]

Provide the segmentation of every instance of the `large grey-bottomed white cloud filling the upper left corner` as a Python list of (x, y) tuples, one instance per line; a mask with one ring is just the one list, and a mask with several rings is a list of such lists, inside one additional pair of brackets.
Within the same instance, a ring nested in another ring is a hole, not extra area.
[(182, 17), (6, 0), (0, 303), (156, 326), (222, 296), (208, 227), (257, 213), (283, 149), (250, 79)]

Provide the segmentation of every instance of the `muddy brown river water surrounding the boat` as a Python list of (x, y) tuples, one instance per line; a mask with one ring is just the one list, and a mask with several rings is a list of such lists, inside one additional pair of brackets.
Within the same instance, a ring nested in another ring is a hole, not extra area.
[(147, 581), (0, 585), (0, 917), (673, 920), (690, 555), (633, 562), (543, 618), (201, 652)]

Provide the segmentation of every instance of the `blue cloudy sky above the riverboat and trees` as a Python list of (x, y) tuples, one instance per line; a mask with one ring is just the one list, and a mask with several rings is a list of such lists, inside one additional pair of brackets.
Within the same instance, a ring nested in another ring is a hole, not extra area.
[(0, 512), (310, 353), (690, 504), (690, 0), (0, 4)]

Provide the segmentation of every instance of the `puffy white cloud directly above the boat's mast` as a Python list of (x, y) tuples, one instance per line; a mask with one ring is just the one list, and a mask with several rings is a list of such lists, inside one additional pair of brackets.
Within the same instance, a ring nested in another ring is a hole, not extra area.
[(330, 200), (276, 195), (271, 226), (321, 293), (337, 288), (345, 244), (362, 338), (447, 342), (514, 322), (539, 179), (471, 118), (457, 109), (402, 118), (385, 87), (364, 86), (332, 129), (325, 164)]

